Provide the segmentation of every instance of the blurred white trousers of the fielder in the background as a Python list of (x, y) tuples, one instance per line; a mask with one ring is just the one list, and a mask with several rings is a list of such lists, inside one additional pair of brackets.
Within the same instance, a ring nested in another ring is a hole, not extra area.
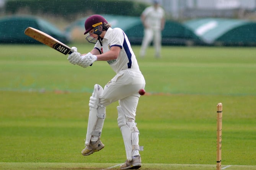
[(144, 57), (145, 52), (148, 48), (148, 45), (153, 40), (153, 45), (155, 48), (155, 56), (160, 57), (160, 52), (161, 52), (161, 41), (162, 41), (162, 34), (160, 29), (149, 29), (146, 28), (144, 29), (144, 36), (142, 40), (142, 45), (140, 49), (140, 56)]

